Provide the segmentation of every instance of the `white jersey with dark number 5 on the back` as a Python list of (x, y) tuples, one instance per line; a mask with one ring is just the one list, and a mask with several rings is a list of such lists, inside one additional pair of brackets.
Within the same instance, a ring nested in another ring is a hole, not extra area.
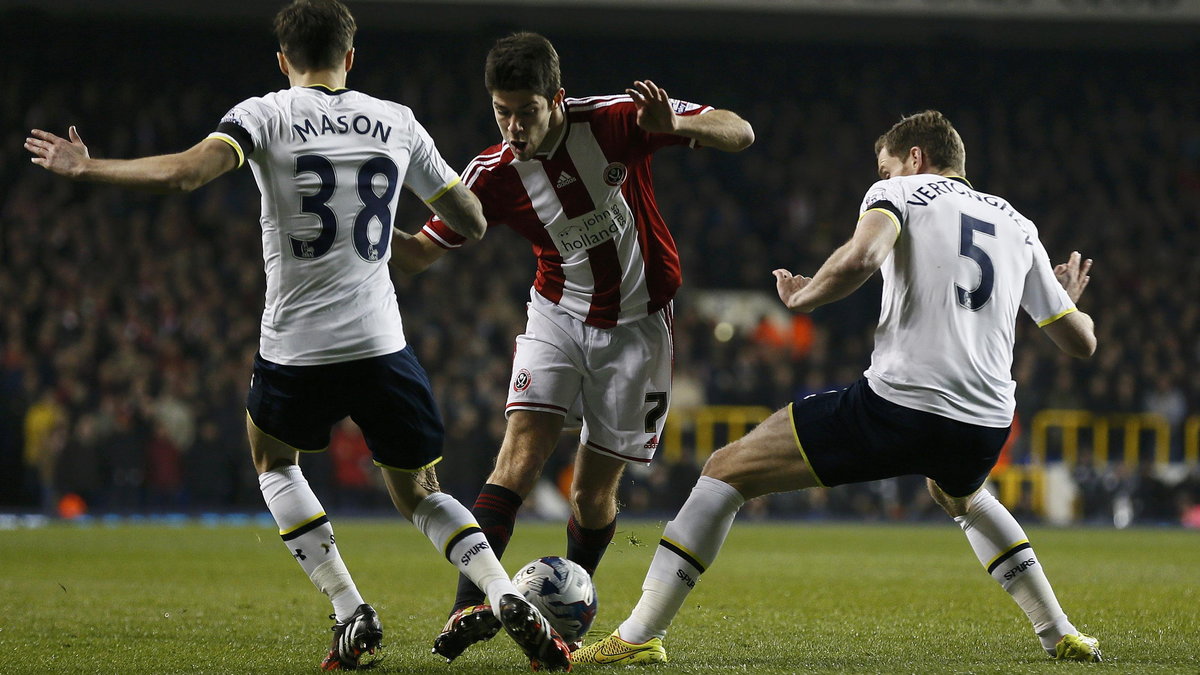
[(1008, 426), (1016, 309), (1038, 325), (1075, 311), (1037, 227), (1007, 201), (937, 174), (876, 183), (860, 213), (869, 210), (888, 214), (900, 231), (882, 268), (864, 374), (871, 389), (905, 407)]

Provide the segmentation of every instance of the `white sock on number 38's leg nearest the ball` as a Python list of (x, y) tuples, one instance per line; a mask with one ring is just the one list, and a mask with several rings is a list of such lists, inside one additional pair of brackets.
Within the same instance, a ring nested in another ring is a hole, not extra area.
[(413, 509), (413, 525), (433, 542), (446, 560), (492, 602), (492, 611), (499, 616), (497, 601), (512, 593), (521, 596), (500, 561), (492, 552), (487, 537), (479, 528), (467, 507), (444, 492), (433, 492)]

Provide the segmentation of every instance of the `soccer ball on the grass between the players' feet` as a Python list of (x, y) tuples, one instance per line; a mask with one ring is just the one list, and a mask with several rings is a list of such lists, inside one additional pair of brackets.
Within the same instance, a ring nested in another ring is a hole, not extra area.
[(512, 584), (568, 643), (581, 640), (596, 617), (592, 577), (566, 558), (539, 557), (522, 567)]

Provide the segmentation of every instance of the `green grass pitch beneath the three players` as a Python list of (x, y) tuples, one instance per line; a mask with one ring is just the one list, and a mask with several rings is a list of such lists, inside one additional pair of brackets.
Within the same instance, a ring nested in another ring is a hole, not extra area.
[[(335, 521), (379, 611), (377, 673), (524, 673), (502, 633), (446, 665), (430, 653), (455, 571), (396, 520)], [(637, 599), (662, 522), (622, 522), (593, 633)], [(740, 520), (688, 599), (667, 673), (1200, 673), (1200, 534), (1030, 528), (1100, 664), (1045, 658), (958, 527)], [(564, 527), (521, 522), (506, 567), (562, 555)], [(0, 532), (0, 673), (316, 673), (330, 608), (265, 526), (52, 525)], [(576, 671), (604, 670), (581, 665)], [(613, 670), (608, 668), (607, 670)], [(626, 669), (617, 669), (628, 671)]]

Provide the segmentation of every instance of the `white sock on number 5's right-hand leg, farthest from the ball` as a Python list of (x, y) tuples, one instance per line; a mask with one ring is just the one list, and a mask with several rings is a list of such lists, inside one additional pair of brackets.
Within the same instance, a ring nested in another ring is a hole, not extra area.
[(1058, 605), (1045, 572), (1025, 531), (986, 489), (967, 502), (967, 514), (954, 519), (966, 532), (976, 557), (1030, 617), (1042, 647), (1054, 653), (1063, 635), (1075, 627)]

